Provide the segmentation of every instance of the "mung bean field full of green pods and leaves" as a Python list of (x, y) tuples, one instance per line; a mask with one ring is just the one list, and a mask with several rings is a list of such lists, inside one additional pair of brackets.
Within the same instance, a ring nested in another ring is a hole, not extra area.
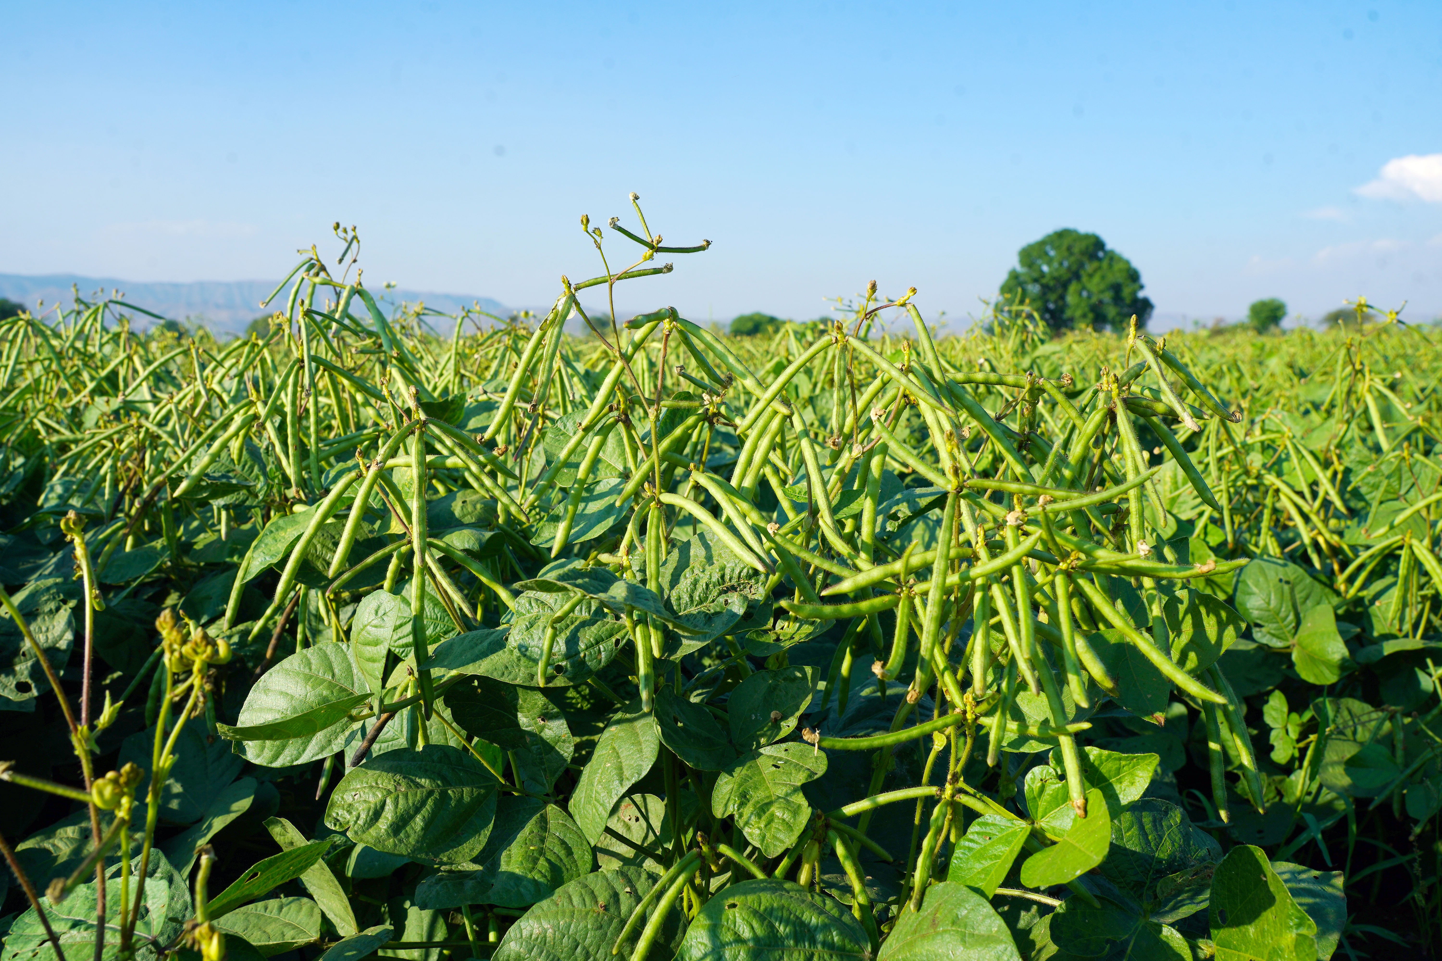
[(730, 337), (634, 213), (3, 321), (3, 961), (1436, 957), (1442, 331)]

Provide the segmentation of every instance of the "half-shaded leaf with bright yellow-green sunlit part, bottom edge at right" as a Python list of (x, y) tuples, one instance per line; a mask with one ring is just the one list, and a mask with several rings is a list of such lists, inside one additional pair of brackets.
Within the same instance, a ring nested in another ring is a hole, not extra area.
[(1314, 961), (1314, 922), (1260, 847), (1237, 844), (1211, 879), (1208, 906), (1217, 961)]

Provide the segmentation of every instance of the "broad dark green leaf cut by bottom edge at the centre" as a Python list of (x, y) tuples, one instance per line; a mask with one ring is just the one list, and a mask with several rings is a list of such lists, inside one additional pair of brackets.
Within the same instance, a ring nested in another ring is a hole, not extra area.
[(676, 961), (870, 957), (865, 929), (841, 902), (776, 877), (744, 880), (715, 895), (676, 951)]

